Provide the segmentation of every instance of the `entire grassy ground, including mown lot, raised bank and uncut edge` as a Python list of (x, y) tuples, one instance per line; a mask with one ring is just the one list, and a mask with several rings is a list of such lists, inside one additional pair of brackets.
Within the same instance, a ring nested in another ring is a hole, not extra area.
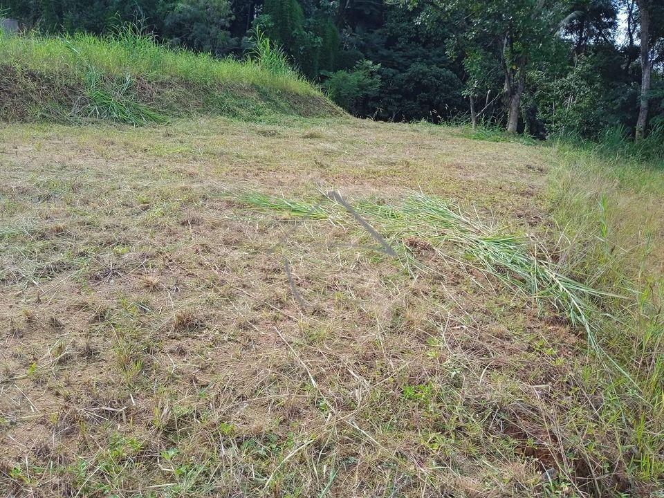
[(0, 494), (663, 496), (661, 165), (265, 43), (0, 55)]

